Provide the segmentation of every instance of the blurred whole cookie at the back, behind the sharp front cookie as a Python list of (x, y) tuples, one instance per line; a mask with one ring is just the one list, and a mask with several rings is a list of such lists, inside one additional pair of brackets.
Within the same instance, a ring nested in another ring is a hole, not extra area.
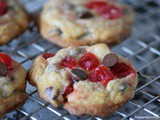
[(40, 14), (40, 32), (61, 46), (117, 44), (128, 37), (135, 15), (112, 0), (50, 0)]

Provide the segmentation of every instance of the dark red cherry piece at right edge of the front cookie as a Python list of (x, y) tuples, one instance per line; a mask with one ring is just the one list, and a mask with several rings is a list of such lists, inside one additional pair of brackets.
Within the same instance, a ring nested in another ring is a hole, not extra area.
[(131, 73), (135, 73), (135, 70), (125, 63), (117, 63), (115, 66), (111, 67), (111, 72), (118, 78), (123, 78)]

